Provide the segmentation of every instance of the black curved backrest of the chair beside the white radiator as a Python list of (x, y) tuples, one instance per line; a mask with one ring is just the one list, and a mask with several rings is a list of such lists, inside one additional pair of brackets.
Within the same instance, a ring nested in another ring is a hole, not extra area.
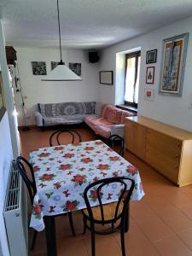
[[(33, 203), (33, 198), (34, 195), (37, 193), (37, 188), (32, 165), (24, 157), (18, 156), (16, 159), (16, 166), (20, 172), (21, 177), (23, 178), (23, 181), (26, 183), (26, 188), (30, 196), (30, 201), (31, 203)], [(27, 175), (25, 166), (27, 167), (28, 172), (31, 173), (32, 178)]]

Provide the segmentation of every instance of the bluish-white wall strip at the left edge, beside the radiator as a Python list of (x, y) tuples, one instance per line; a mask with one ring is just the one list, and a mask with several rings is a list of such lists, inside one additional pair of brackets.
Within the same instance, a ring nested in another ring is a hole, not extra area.
[(13, 160), (9, 119), (6, 112), (0, 122), (0, 243), (4, 256), (9, 256), (9, 247), (3, 218), (3, 206), (7, 189), (10, 161)]

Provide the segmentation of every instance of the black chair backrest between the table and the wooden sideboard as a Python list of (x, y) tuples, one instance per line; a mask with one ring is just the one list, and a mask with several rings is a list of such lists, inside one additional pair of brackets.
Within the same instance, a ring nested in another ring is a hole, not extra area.
[(120, 137), (117, 134), (113, 134), (108, 137), (107, 144), (110, 148), (117, 149), (118, 154), (120, 154), (121, 156), (124, 155), (125, 142), (123, 137)]

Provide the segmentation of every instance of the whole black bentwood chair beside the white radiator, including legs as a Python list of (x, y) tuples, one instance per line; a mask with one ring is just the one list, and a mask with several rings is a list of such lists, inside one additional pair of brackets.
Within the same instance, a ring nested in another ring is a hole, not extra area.
[[(23, 178), (24, 183), (26, 183), (26, 188), (28, 190), (28, 194), (30, 197), (31, 205), (33, 205), (33, 199), (34, 196), (37, 193), (37, 187), (35, 183), (35, 177), (34, 177), (34, 172), (32, 169), (32, 165), (22, 156), (18, 156), (16, 159), (16, 166), (20, 172), (21, 177)], [(28, 176), (28, 173), (26, 173), (26, 167), (28, 171), (31, 174), (31, 177)], [(73, 236), (75, 236), (75, 231), (73, 227), (73, 218), (72, 218), (72, 212), (68, 212), (68, 218), (69, 218), (69, 224), (71, 226), (71, 230), (73, 233)], [(36, 237), (38, 235), (38, 231), (34, 230), (33, 236), (32, 236), (32, 246), (30, 247), (31, 250), (34, 249), (35, 247), (35, 241)]]

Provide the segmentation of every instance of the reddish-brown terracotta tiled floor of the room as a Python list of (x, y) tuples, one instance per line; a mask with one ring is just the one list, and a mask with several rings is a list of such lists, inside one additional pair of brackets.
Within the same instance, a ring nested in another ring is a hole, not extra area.
[[(84, 141), (96, 138), (90, 130), (78, 131)], [(48, 146), (51, 132), (20, 131), (22, 154), (28, 158), (29, 150)], [(125, 159), (139, 168), (146, 194), (143, 200), (131, 202), (131, 226), (125, 235), (127, 255), (192, 255), (192, 185), (177, 188), (134, 155), (125, 152)], [(81, 235), (80, 212), (74, 212), (73, 218), (76, 237), (71, 235), (67, 217), (56, 218), (58, 255), (88, 256), (90, 233)], [(46, 255), (44, 232), (38, 234), (36, 247), (29, 255)], [(119, 233), (96, 236), (96, 255), (121, 255)]]

